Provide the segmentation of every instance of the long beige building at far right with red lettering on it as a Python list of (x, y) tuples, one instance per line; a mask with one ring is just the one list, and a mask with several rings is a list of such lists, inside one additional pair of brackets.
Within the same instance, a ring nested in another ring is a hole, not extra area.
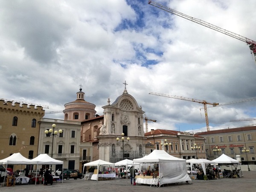
[[(221, 154), (234, 159), (236, 155), (240, 155), (242, 164), (256, 164), (256, 126), (206, 131), (196, 135), (206, 138), (205, 146), (209, 160)], [(213, 151), (216, 147), (219, 151)], [(244, 148), (249, 152), (245, 154)]]

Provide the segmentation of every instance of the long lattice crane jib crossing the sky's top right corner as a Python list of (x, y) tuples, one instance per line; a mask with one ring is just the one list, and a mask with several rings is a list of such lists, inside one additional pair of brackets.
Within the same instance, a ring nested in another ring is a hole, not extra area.
[(190, 20), (192, 22), (198, 23), (198, 24), (200, 24), (202, 26), (206, 26), (206, 27), (208, 27), (210, 29), (213, 29), (215, 31), (221, 32), (221, 33), (223, 33), (225, 35), (228, 35), (230, 37), (236, 38), (236, 39), (238, 39), (240, 41), (243, 41), (243, 42), (247, 43), (249, 45), (249, 48), (250, 48), (251, 52), (253, 52), (254, 60), (256, 62), (256, 41), (253, 41), (251, 39), (248, 39), (248, 38), (243, 37), (241, 35), (238, 35), (236, 33), (230, 32), (230, 31), (228, 31), (226, 29), (222, 29), (221, 27), (215, 26), (215, 25), (213, 25), (211, 23), (207, 23), (204, 20), (197, 19), (197, 18), (191, 17), (189, 15), (185, 15), (185, 14), (183, 14), (181, 12), (177, 12), (174, 9), (168, 8), (168, 7), (163, 6), (163, 5), (159, 4), (159, 3), (156, 3), (154, 1), (148, 0), (148, 4), (152, 5), (152, 6), (155, 6), (155, 7), (159, 8), (159, 9), (162, 9), (162, 10), (164, 10), (166, 12), (169, 12), (169, 13), (172, 13), (174, 15), (180, 16), (182, 18), (185, 18), (185, 19)]

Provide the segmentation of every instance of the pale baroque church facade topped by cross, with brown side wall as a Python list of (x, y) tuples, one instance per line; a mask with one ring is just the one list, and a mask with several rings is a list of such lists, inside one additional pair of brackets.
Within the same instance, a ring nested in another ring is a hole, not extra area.
[[(111, 104), (103, 106), (103, 116), (81, 122), (82, 143), (92, 143), (93, 160), (116, 163), (123, 159), (135, 159), (145, 155), (142, 108), (125, 90)], [(123, 136), (122, 136), (123, 133)], [(119, 138), (117, 141), (116, 138)], [(124, 137), (124, 140), (122, 140)], [(129, 139), (128, 139), (129, 138)]]

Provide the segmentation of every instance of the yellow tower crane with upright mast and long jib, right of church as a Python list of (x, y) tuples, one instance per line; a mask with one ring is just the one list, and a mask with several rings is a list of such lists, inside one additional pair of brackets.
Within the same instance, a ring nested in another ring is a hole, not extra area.
[(207, 102), (207, 101), (204, 101), (204, 100), (191, 99), (191, 98), (181, 97), (181, 96), (176, 96), (176, 95), (175, 95), (175, 96), (166, 95), (166, 94), (162, 94), (162, 93), (152, 93), (152, 92), (149, 92), (149, 94), (151, 94), (151, 95), (157, 95), (157, 96), (163, 96), (163, 97), (169, 97), (169, 98), (173, 98), (173, 99), (181, 99), (181, 100), (184, 100), (184, 101), (192, 101), (192, 102), (204, 104), (204, 114), (205, 114), (205, 120), (206, 120), (206, 127), (207, 127), (207, 131), (210, 131), (210, 129), (209, 129), (208, 115), (207, 115), (207, 105), (217, 106), (218, 103), (211, 103), (211, 102)]

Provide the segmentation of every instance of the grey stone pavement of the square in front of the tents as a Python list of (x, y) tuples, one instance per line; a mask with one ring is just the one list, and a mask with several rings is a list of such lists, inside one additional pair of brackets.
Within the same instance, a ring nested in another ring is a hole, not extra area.
[(218, 180), (192, 180), (192, 184), (169, 184), (169, 186), (136, 185), (132, 186), (130, 179), (114, 180), (64, 180), (63, 183), (52, 185), (23, 184), (9, 187), (0, 187), (0, 192), (256, 192), (256, 171), (244, 171), (244, 177), (221, 178)]

